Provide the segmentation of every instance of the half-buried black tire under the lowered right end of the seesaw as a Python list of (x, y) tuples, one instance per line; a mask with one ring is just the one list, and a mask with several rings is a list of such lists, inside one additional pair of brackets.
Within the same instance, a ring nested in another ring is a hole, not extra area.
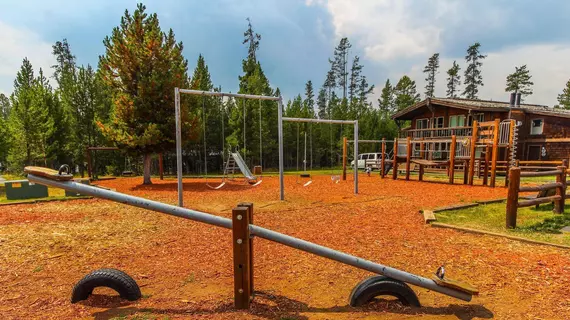
[(412, 288), (402, 281), (386, 276), (372, 276), (359, 282), (350, 293), (349, 304), (353, 307), (360, 307), (378, 296), (396, 297), (406, 306), (421, 306)]

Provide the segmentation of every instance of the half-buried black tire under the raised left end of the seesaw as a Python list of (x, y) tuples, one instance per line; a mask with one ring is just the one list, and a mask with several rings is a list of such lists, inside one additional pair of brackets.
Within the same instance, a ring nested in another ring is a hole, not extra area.
[(87, 274), (73, 287), (71, 303), (89, 298), (97, 287), (111, 288), (123, 299), (135, 301), (141, 298), (141, 289), (128, 274), (117, 269), (99, 269)]

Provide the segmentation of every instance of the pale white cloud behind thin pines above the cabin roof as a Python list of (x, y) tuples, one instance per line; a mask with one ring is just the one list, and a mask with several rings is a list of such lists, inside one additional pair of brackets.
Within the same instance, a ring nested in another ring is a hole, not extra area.
[[(505, 92), (507, 75), (515, 71), (515, 66), (526, 64), (534, 82), (534, 93), (527, 97), (525, 102), (553, 106), (557, 104), (556, 98), (570, 78), (569, 56), (570, 44), (531, 44), (488, 53), (481, 69), (485, 85), (479, 88), (479, 98), (508, 101), (509, 93)], [(445, 96), (446, 71), (451, 68), (453, 60), (461, 67), (460, 89), (463, 90), (463, 72), (466, 67), (464, 57), (443, 57), (436, 78), (435, 93), (438, 97)], [(398, 81), (402, 75), (407, 74), (416, 81), (418, 92), (423, 93), (423, 67), (423, 64), (415, 64), (405, 70), (394, 70), (389, 77), (392, 81)]]

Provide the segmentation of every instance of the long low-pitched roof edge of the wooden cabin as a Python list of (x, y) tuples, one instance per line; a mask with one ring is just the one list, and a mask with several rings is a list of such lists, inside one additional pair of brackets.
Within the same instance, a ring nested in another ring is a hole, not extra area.
[[(421, 111), (420, 109), (428, 105), (440, 105), (450, 108), (488, 111), (488, 112), (509, 112), (509, 102), (505, 101), (491, 101), (491, 100), (472, 100), (463, 98), (427, 98), (416, 104), (413, 104), (405, 109), (402, 109), (392, 115), (394, 120), (411, 120)], [(541, 114), (554, 117), (570, 118), (570, 110), (551, 108), (539, 104), (526, 104), (523, 103), (518, 107), (513, 107), (512, 110), (521, 110), (531, 114)]]

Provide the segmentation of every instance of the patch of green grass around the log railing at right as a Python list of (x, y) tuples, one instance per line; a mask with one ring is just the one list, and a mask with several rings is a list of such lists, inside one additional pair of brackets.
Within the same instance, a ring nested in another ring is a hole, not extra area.
[(493, 203), (473, 208), (444, 211), (436, 214), (437, 222), (484, 231), (503, 233), (532, 240), (570, 245), (570, 233), (559, 230), (570, 225), (570, 205), (564, 215), (554, 214), (552, 204), (520, 208), (517, 213), (517, 228), (505, 227), (506, 204)]

